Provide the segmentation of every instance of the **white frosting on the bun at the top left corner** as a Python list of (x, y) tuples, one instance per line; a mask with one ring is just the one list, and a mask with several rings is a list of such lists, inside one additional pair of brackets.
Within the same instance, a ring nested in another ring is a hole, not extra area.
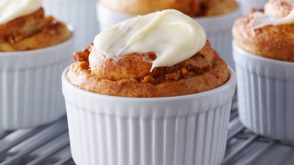
[(34, 13), (42, 0), (0, 0), (0, 24)]

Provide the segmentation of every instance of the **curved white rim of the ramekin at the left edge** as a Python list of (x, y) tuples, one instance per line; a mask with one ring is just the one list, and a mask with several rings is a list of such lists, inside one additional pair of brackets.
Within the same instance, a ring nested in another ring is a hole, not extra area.
[(0, 58), (2, 57), (17, 57), (17, 56), (30, 56), (32, 53), (42, 53), (42, 52), (46, 52), (46, 51), (51, 51), (52, 49), (56, 49), (59, 47), (64, 47), (68, 44), (70, 44), (71, 42), (75, 41), (75, 37), (76, 37), (76, 32), (74, 27), (71, 24), (66, 24), (68, 30), (71, 32), (71, 36), (69, 39), (67, 39), (66, 41), (63, 41), (59, 44), (53, 45), (53, 46), (49, 46), (49, 47), (45, 47), (45, 48), (41, 48), (41, 49), (34, 49), (34, 50), (24, 50), (24, 51), (12, 51), (12, 52), (0, 52)]

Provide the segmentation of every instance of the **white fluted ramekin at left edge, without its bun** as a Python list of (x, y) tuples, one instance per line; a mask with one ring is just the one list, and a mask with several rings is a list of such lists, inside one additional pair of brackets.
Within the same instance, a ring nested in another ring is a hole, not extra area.
[(72, 61), (74, 38), (38, 50), (0, 52), (0, 130), (35, 127), (65, 115), (61, 74)]

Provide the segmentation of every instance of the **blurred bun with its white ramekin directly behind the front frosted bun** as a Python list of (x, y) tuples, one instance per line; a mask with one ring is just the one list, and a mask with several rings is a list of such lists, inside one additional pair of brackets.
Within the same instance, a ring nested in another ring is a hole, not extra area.
[(234, 67), (231, 29), (234, 20), (241, 14), (235, 0), (101, 0), (97, 3), (97, 18), (101, 30), (104, 30), (122, 20), (164, 9), (179, 10), (198, 21), (206, 30), (212, 47), (230, 67)]

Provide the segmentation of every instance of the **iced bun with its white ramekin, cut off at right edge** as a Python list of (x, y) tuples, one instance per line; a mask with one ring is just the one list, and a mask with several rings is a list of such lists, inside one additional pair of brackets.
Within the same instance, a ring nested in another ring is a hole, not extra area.
[(294, 1), (272, 0), (233, 27), (241, 122), (294, 141)]

